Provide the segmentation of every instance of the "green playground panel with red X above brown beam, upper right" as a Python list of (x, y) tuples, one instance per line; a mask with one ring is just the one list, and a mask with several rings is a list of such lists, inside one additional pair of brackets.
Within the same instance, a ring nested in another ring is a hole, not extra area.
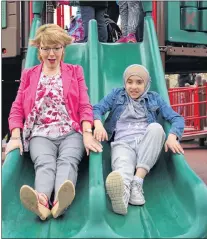
[(206, 72), (207, 1), (153, 1), (165, 72)]

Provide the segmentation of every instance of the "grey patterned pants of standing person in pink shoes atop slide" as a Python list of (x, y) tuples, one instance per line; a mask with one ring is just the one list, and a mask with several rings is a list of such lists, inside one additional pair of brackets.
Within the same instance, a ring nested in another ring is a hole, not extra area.
[(139, 1), (118, 1), (122, 35), (135, 34), (141, 12)]

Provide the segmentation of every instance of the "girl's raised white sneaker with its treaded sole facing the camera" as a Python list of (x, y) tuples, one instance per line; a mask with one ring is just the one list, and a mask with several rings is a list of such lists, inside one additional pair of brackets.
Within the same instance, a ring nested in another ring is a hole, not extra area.
[(117, 171), (110, 173), (106, 179), (106, 190), (111, 199), (115, 213), (126, 215), (130, 189), (124, 185), (121, 174)]

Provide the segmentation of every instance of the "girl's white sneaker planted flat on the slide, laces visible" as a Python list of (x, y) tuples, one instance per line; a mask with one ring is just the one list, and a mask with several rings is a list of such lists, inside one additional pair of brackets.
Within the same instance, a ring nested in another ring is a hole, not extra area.
[(143, 205), (145, 204), (144, 191), (142, 189), (142, 184), (133, 180), (131, 183), (131, 194), (129, 198), (129, 203), (132, 205)]

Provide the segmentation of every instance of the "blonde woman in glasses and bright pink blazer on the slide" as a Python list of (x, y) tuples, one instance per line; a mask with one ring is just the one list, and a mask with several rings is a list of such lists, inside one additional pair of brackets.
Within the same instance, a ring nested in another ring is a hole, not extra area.
[(22, 186), (20, 199), (42, 220), (50, 213), (57, 218), (72, 203), (84, 147), (87, 155), (89, 150), (102, 151), (92, 136), (93, 113), (83, 69), (62, 61), (65, 46), (71, 42), (55, 24), (37, 30), (31, 45), (38, 48), (41, 64), (22, 72), (9, 115), (11, 138), (6, 154), (16, 148), (22, 154), (24, 148), (30, 151), (35, 168), (35, 190)]

